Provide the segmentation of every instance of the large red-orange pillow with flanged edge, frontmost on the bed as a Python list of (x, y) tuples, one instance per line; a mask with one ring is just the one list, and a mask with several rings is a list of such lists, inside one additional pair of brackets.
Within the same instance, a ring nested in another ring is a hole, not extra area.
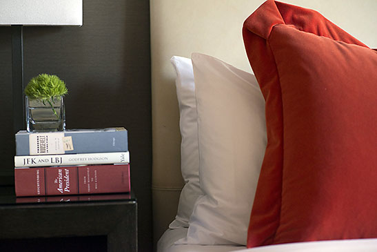
[(377, 52), (272, 0), (243, 37), (268, 137), (247, 246), (377, 238)]

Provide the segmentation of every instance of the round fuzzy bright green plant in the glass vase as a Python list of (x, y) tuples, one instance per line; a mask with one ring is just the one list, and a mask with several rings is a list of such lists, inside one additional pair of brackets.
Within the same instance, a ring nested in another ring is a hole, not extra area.
[(48, 75), (45, 73), (30, 79), (25, 88), (25, 95), (27, 95), (29, 99), (37, 99), (44, 105), (47, 102), (50, 104), (54, 115), (57, 117), (57, 112), (52, 105), (52, 103), (54, 103), (54, 97), (63, 96), (67, 93), (68, 90), (65, 87), (64, 81), (59, 79), (57, 75)]

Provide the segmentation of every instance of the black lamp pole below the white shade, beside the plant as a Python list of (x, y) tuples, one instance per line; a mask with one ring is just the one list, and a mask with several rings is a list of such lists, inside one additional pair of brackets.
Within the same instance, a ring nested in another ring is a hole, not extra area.
[(23, 26), (12, 26), (13, 130), (26, 128), (23, 97)]

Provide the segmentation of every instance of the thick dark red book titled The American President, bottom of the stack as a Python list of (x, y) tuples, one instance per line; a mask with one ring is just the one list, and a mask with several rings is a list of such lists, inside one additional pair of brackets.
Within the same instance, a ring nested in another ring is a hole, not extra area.
[(16, 196), (126, 193), (130, 164), (15, 168)]

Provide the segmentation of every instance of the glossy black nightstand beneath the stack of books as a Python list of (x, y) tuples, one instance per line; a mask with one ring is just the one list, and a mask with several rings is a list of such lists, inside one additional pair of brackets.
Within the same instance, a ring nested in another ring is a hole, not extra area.
[(35, 251), (137, 251), (136, 197), (16, 197), (13, 187), (0, 187), (0, 251), (33, 251), (32, 246)]

